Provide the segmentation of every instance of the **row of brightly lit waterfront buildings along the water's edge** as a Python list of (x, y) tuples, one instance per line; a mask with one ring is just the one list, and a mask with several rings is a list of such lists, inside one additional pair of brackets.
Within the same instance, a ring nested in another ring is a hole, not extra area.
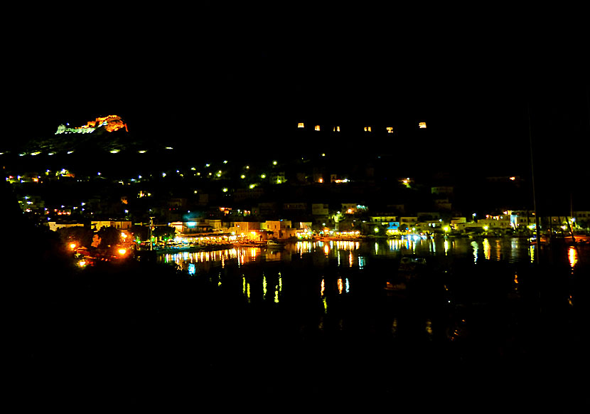
[[(535, 214), (530, 211), (503, 211), (499, 215), (478, 217), (441, 216), (438, 212), (423, 212), (413, 216), (397, 216), (387, 213), (368, 213), (365, 206), (343, 204), (340, 211), (330, 213), (328, 206), (314, 204), (309, 221), (292, 221), (289, 219), (265, 220), (262, 216), (243, 216), (227, 214), (221, 211), (216, 218), (196, 218), (193, 220), (164, 223), (175, 230), (177, 242), (193, 243), (208, 236), (225, 235), (229, 240), (245, 242), (263, 242), (267, 240), (309, 239), (313, 237), (358, 238), (363, 236), (390, 236), (404, 234), (446, 234), (465, 235), (473, 233), (508, 235), (526, 233), (535, 229)], [(578, 218), (587, 220), (589, 211), (576, 211), (575, 216), (552, 217), (548, 222), (544, 218), (544, 228), (568, 230), (579, 228)], [(50, 230), (82, 226), (84, 223), (72, 221), (48, 221)], [(114, 227), (131, 230), (132, 225), (149, 225), (149, 223), (132, 223), (128, 220), (90, 221), (92, 230), (102, 227)], [(161, 225), (161, 224), (160, 224)]]

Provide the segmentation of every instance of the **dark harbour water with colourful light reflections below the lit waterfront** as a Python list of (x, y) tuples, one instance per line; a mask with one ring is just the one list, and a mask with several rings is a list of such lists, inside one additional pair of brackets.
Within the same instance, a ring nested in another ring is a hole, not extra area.
[(6, 291), (9, 393), (75, 412), (584, 411), (589, 266), (589, 245), (412, 237), (36, 272)]

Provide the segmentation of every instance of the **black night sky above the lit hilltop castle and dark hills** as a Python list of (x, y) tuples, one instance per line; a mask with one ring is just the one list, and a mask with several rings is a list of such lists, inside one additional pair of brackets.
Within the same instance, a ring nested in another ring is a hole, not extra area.
[[(508, 174), (529, 169), (530, 126), (540, 170), (588, 174), (587, 36), (574, 11), (375, 10), (342, 24), (329, 14), (277, 10), (284, 18), (269, 21), (232, 11), (23, 19), (20, 33), (38, 36), (7, 44), (11, 122), (1, 143), (117, 114), (134, 133), (187, 148), (274, 154), (310, 145), (281, 143), (302, 120), (348, 132), (395, 124), (397, 140), (347, 134), (339, 146), (411, 144), (466, 171)], [(423, 142), (403, 134), (419, 121)]]

